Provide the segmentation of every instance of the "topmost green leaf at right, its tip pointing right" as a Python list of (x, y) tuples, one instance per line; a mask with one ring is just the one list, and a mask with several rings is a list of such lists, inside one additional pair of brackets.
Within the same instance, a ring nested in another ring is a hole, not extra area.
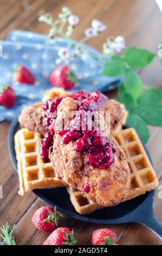
[(144, 49), (138, 49), (135, 46), (129, 47), (124, 51), (124, 59), (132, 68), (144, 68), (155, 56), (156, 54)]

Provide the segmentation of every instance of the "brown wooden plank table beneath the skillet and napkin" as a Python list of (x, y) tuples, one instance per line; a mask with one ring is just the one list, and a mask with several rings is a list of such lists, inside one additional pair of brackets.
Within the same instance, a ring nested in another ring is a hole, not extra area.
[[(24, 6), (23, 4), (24, 3)], [(5, 40), (12, 29), (24, 29), (39, 33), (47, 33), (48, 27), (38, 22), (41, 10), (50, 11), (57, 15), (64, 5), (79, 15), (80, 23), (74, 33), (74, 39), (80, 39), (83, 31), (90, 26), (92, 19), (102, 20), (108, 29), (99, 38), (91, 39), (89, 44), (102, 50), (102, 44), (107, 36), (123, 35), (127, 45), (145, 47), (157, 53), (158, 44), (161, 42), (162, 14), (154, 0), (0, 0), (0, 38)], [(162, 65), (155, 59), (144, 71), (141, 71), (143, 81), (151, 87), (161, 88)], [(116, 91), (108, 94), (116, 95)], [(18, 196), (18, 176), (14, 170), (8, 150), (8, 121), (0, 124), (0, 153), (1, 153), (1, 178), (3, 186), (3, 199), (0, 199), (0, 226), (9, 222), (10, 227), (16, 223), (15, 237), (17, 243), (22, 245), (41, 245), (48, 234), (36, 230), (31, 222), (35, 210), (45, 203), (37, 198), (33, 192), (26, 196)], [(147, 148), (151, 154), (155, 172), (162, 184), (161, 170), (161, 127), (149, 127), (151, 137)], [(162, 221), (162, 199), (158, 198), (158, 188), (155, 193), (154, 212)], [(162, 245), (161, 240), (149, 229), (141, 224), (103, 225), (92, 224), (75, 220), (65, 216), (60, 221), (60, 226), (74, 227), (79, 245), (90, 245), (92, 231), (98, 228), (109, 227), (120, 237), (120, 245)], [(86, 235), (85, 235), (86, 234)]]

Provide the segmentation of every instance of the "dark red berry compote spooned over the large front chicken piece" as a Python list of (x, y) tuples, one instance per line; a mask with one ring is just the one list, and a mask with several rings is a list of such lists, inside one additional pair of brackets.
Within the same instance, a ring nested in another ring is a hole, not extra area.
[(71, 121), (68, 130), (58, 132), (62, 137), (61, 143), (68, 144), (71, 141), (76, 141), (74, 150), (87, 155), (86, 161), (91, 166), (100, 169), (107, 169), (113, 164), (113, 146), (100, 130), (96, 130), (93, 126), (89, 130), (88, 125), (82, 129), (82, 123), (86, 121), (83, 117), (84, 113), (90, 112), (93, 120), (93, 113), (99, 111), (106, 101), (107, 97), (98, 91), (89, 94), (88, 98), (83, 99), (82, 97), (82, 100), (78, 102), (76, 116)]

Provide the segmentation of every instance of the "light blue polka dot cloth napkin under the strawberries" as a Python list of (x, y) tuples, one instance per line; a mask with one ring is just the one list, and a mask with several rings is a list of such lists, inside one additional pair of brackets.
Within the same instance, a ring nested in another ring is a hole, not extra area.
[[(22, 108), (41, 100), (45, 90), (52, 88), (48, 82), (49, 74), (57, 68), (55, 59), (58, 58), (58, 50), (67, 47), (67, 44), (61, 38), (51, 42), (46, 35), (27, 31), (11, 31), (7, 41), (0, 41), (0, 84), (8, 82), (16, 93), (16, 104), (13, 108), (0, 106), (0, 121), (12, 121)], [(85, 48), (101, 56), (94, 48)], [(17, 65), (25, 65), (32, 71), (36, 79), (34, 86), (14, 82), (13, 73)], [(103, 63), (86, 53), (72, 60), (69, 65), (78, 78), (78, 84), (72, 91), (83, 89), (89, 92), (107, 92), (121, 83), (120, 77), (101, 76)]]

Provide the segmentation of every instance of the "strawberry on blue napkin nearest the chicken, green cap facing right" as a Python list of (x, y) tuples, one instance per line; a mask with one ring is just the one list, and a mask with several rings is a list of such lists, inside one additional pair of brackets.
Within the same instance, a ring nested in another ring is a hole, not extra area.
[(52, 86), (63, 87), (65, 90), (72, 89), (77, 80), (69, 66), (60, 66), (49, 76)]

